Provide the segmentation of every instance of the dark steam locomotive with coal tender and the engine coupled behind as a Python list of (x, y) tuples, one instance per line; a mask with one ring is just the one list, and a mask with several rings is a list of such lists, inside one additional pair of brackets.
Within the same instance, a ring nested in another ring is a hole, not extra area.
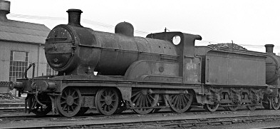
[(26, 105), (36, 115), (53, 110), (71, 117), (90, 107), (103, 115), (161, 108), (183, 113), (191, 105), (209, 111), (241, 105), (279, 109), (280, 58), (271, 44), (260, 53), (195, 46), (202, 37), (182, 32), (142, 38), (133, 36), (127, 22), (106, 33), (81, 26), (81, 10), (67, 12), (68, 24), (56, 26), (46, 39), (46, 59), (58, 75), (28, 78), (32, 63), (26, 78), (10, 85), (28, 94)]

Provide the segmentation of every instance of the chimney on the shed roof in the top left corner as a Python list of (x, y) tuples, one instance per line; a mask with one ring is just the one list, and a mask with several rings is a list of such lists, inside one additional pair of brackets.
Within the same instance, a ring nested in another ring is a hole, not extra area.
[(10, 13), (10, 1), (0, 0), (0, 21), (7, 21), (7, 14)]

